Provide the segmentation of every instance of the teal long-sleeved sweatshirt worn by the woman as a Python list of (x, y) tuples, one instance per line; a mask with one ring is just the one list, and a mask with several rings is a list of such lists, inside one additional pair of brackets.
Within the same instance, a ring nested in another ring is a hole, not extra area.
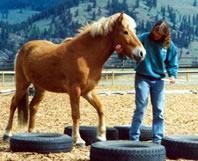
[(139, 36), (144, 48), (146, 56), (143, 61), (136, 64), (135, 71), (138, 74), (152, 78), (164, 78), (167, 71), (169, 77), (177, 77), (178, 58), (177, 51), (173, 42), (169, 48), (163, 48), (162, 42), (150, 40), (149, 33), (143, 33)]

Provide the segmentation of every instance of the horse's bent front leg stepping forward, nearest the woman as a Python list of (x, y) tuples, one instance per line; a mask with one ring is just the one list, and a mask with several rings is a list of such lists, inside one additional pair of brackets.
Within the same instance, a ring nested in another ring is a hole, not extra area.
[(99, 141), (106, 141), (106, 124), (105, 124), (105, 116), (104, 116), (104, 109), (102, 104), (100, 103), (99, 99), (97, 98), (94, 91), (83, 97), (96, 109), (99, 117), (99, 124), (98, 124), (98, 132), (97, 132), (97, 139)]

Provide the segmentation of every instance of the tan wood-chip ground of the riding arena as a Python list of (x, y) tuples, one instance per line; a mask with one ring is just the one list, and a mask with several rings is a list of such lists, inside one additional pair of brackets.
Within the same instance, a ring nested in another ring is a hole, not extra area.
[[(4, 87), (1, 89), (13, 87)], [(134, 90), (132, 86), (98, 86), (96, 91), (128, 91)], [(166, 90), (196, 90), (198, 85), (179, 86), (167, 85)], [(13, 94), (0, 95), (0, 139), (8, 120), (9, 105)], [(135, 109), (135, 95), (98, 95), (106, 115), (108, 127), (115, 125), (129, 125)], [(30, 99), (32, 96), (29, 97)], [(72, 125), (71, 109), (68, 95), (46, 92), (46, 97), (40, 105), (36, 118), (36, 132), (63, 133), (66, 126)], [(81, 99), (81, 125), (97, 125), (98, 117), (96, 111), (84, 99)], [(149, 103), (144, 118), (144, 125), (151, 125), (152, 110)], [(198, 134), (198, 94), (166, 94), (165, 107), (165, 135)], [(13, 133), (24, 132), (26, 129), (19, 129), (17, 126), (17, 114), (14, 118)], [(0, 161), (89, 161), (90, 146), (85, 148), (74, 147), (67, 153), (22, 153), (12, 152), (9, 143), (0, 143)], [(169, 159), (167, 159), (169, 161)], [(184, 161), (180, 159), (179, 161)]]

